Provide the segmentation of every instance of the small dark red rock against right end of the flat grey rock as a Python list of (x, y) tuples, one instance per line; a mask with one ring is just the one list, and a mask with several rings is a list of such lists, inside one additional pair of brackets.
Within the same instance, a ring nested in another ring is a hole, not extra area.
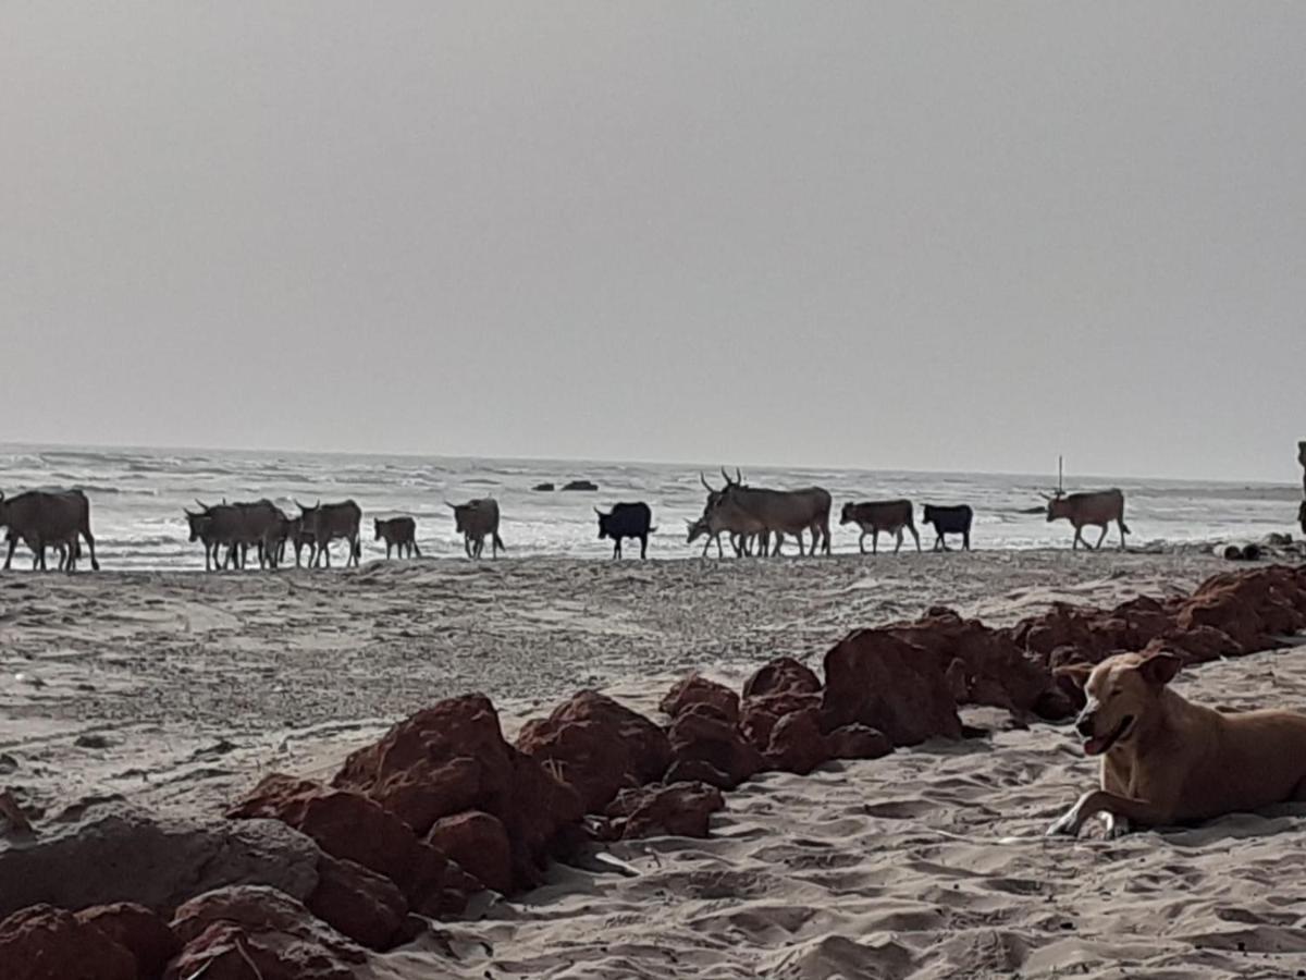
[(342, 936), (385, 951), (404, 938), (407, 900), (389, 878), (360, 864), (323, 855), (308, 911)]

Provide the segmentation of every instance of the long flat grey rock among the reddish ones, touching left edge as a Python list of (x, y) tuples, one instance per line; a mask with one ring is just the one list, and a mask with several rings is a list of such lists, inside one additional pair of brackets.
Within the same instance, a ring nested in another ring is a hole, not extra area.
[(277, 821), (155, 817), (121, 801), (72, 813), (42, 823), (35, 839), (0, 839), (0, 916), (38, 903), (114, 902), (168, 915), (225, 885), (269, 885), (298, 899), (317, 886), (317, 845)]

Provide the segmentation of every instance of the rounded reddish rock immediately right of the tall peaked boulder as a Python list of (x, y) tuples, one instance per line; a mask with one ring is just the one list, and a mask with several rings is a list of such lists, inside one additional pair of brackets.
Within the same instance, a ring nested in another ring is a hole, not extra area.
[(602, 813), (619, 789), (661, 777), (671, 762), (666, 733), (597, 691), (580, 691), (543, 720), (528, 721), (517, 747), (538, 759)]

